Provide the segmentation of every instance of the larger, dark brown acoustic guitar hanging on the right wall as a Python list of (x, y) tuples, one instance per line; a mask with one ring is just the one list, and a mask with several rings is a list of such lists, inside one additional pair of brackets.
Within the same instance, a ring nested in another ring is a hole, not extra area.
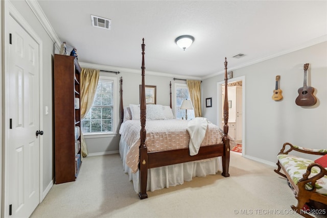
[(311, 86), (307, 86), (308, 67), (309, 67), (309, 64), (305, 64), (303, 66), (303, 68), (305, 70), (304, 79), (303, 79), (303, 87), (301, 87), (297, 90), (298, 96), (295, 100), (295, 104), (297, 104), (298, 106), (312, 106), (317, 103), (317, 99), (313, 95), (315, 88), (311, 87)]

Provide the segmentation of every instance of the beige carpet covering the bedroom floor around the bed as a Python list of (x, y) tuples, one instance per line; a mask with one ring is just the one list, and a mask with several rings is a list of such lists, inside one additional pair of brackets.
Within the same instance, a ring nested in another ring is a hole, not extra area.
[(231, 153), (230, 177), (197, 177), (139, 200), (119, 154), (87, 157), (77, 181), (54, 185), (31, 217), (301, 217), (273, 169)]

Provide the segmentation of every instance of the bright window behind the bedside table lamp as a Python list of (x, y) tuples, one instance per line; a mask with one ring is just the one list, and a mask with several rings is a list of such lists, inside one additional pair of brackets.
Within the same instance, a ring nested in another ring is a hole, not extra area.
[[(175, 83), (175, 114), (176, 119), (185, 118), (185, 110), (180, 109), (183, 100), (190, 100), (189, 89), (186, 84), (177, 84)], [(188, 110), (188, 120), (194, 118), (194, 110)]]

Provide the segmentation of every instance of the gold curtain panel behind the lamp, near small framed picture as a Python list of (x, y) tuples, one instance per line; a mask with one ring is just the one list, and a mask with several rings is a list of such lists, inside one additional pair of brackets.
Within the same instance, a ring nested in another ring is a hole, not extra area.
[(201, 81), (186, 80), (189, 88), (189, 94), (194, 108), (195, 117), (202, 116), (201, 110)]

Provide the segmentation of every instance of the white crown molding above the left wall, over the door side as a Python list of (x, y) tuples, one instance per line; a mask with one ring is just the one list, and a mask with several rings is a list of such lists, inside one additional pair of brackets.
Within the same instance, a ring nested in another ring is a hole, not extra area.
[(44, 12), (42, 11), (39, 3), (37, 1), (33, 0), (25, 0), (28, 6), (31, 8), (37, 19), (40, 21), (42, 27), (44, 28), (45, 32), (48, 33), (51, 40), (55, 43), (55, 46), (58, 50), (60, 50), (61, 41), (59, 37), (57, 36), (56, 32), (52, 28), (48, 18), (46, 18)]

